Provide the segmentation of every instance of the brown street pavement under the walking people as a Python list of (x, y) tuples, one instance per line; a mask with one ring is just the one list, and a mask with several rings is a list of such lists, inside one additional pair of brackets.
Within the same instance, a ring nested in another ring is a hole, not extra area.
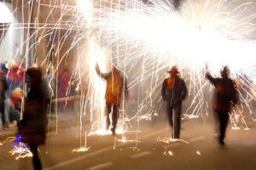
[[(213, 125), (201, 118), (183, 121), (181, 140), (167, 144), (162, 141), (171, 135), (166, 121), (140, 122), (140, 133), (124, 134), (137, 142), (119, 142), (120, 134), (89, 136), (86, 144), (90, 149), (85, 152), (73, 149), (84, 144), (89, 127), (80, 131), (76, 126), (62, 126), (58, 133), (54, 128), (50, 131), (47, 144), (39, 148), (40, 157), (45, 170), (256, 169), (256, 123), (251, 122), (247, 131), (228, 127), (224, 147), (218, 144)], [(137, 127), (135, 123), (131, 130)], [(12, 142), (0, 146), (0, 169), (32, 169), (31, 158), (15, 160), (17, 155), (9, 153), (12, 148)]]

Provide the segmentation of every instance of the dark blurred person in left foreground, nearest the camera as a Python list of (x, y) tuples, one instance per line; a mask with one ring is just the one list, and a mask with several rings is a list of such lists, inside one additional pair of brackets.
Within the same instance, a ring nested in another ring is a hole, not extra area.
[(51, 97), (49, 87), (39, 68), (32, 67), (26, 71), (27, 95), (24, 103), (23, 118), (19, 123), (18, 134), (21, 141), (28, 144), (32, 151), (32, 163), (36, 170), (42, 169), (38, 156), (38, 145), (44, 144), (46, 138), (47, 110)]

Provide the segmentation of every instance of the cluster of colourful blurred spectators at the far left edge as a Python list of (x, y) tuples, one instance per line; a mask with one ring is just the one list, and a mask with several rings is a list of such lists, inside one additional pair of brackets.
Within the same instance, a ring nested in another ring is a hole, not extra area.
[(2, 127), (16, 126), (20, 120), (25, 70), (11, 60), (0, 65)]

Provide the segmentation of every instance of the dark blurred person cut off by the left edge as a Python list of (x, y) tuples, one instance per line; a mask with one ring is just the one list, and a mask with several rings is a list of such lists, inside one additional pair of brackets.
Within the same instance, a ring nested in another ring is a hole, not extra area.
[(2, 127), (7, 127), (5, 120), (5, 92), (7, 90), (7, 83), (5, 77), (3, 75), (2, 69), (0, 69), (0, 112), (1, 112), (1, 120)]

